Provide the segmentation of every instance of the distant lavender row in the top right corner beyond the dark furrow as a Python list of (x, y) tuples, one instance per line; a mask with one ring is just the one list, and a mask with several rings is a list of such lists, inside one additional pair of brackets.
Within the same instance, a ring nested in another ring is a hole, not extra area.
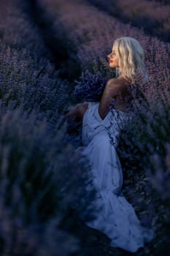
[(151, 36), (166, 42), (170, 40), (169, 5), (148, 0), (88, 0), (88, 2), (120, 19), (123, 23), (131, 23), (132, 26), (144, 29), (144, 32)]

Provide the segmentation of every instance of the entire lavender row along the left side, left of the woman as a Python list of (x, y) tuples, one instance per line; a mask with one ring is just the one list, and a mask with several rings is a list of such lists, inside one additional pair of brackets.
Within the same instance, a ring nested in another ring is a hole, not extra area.
[(1, 2), (0, 254), (69, 255), (79, 243), (58, 225), (68, 206), (83, 208), (88, 173), (60, 125), (69, 84), (47, 59), (30, 8)]

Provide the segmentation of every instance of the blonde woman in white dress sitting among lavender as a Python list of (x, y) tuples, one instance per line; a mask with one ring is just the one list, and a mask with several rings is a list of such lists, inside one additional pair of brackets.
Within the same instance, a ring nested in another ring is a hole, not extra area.
[(82, 154), (90, 161), (96, 188), (96, 200), (89, 206), (95, 210), (94, 219), (85, 221), (86, 225), (105, 233), (111, 239), (110, 246), (136, 252), (155, 234), (140, 225), (134, 208), (123, 197), (123, 173), (116, 148), (128, 116), (128, 88), (137, 74), (146, 74), (144, 50), (136, 39), (120, 37), (108, 58), (117, 78), (107, 82), (101, 101), (77, 105), (66, 117), (82, 121)]

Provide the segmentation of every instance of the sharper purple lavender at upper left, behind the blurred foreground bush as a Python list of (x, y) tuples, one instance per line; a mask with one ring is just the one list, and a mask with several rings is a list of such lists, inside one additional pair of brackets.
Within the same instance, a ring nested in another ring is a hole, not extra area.
[[(1, 99), (6, 105), (10, 99), (22, 103), (25, 110), (37, 108), (55, 124), (68, 99), (69, 83), (59, 79), (55, 66), (43, 58), (47, 50), (41, 35), (21, 7), (19, 0), (1, 7)], [(7, 12), (16, 15), (5, 16)]]

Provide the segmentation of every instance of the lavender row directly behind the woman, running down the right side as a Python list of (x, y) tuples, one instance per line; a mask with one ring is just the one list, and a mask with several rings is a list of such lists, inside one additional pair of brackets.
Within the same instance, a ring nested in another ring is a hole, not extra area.
[[(156, 223), (159, 227), (163, 222), (162, 228), (167, 235), (170, 190), (169, 43), (147, 36), (144, 31), (129, 24), (120, 23), (119, 20), (107, 15), (106, 12), (99, 11), (87, 1), (74, 0), (70, 3), (64, 0), (38, 0), (38, 2), (53, 18), (56, 33), (61, 26), (67, 34), (70, 52), (72, 49), (74, 52), (77, 51), (82, 76), (77, 77), (77, 86), (75, 90), (73, 89), (72, 95), (82, 102), (98, 99), (106, 80), (115, 75), (109, 69), (107, 61), (107, 54), (112, 49), (114, 39), (121, 36), (135, 37), (144, 48), (151, 81), (144, 84), (139, 80), (138, 86), (143, 98), (134, 100), (136, 112), (128, 129), (121, 135), (118, 152), (125, 160), (124, 167), (128, 177), (134, 176), (134, 172), (139, 176), (141, 172), (139, 170), (145, 171), (146, 177), (141, 176), (142, 180), (136, 184), (136, 192), (139, 191), (141, 184), (147, 188), (146, 191), (152, 187), (151, 191), (154, 194), (150, 200), (146, 200), (145, 197), (144, 208), (147, 206), (152, 208), (150, 213), (153, 214), (154, 207), (156, 209), (158, 206), (159, 213), (152, 219), (152, 226)], [(147, 197), (150, 196), (150, 192), (146, 194)], [(153, 198), (155, 206), (152, 205)], [(161, 205), (163, 207), (159, 207)], [(161, 234), (165, 243), (169, 239), (166, 235)]]

